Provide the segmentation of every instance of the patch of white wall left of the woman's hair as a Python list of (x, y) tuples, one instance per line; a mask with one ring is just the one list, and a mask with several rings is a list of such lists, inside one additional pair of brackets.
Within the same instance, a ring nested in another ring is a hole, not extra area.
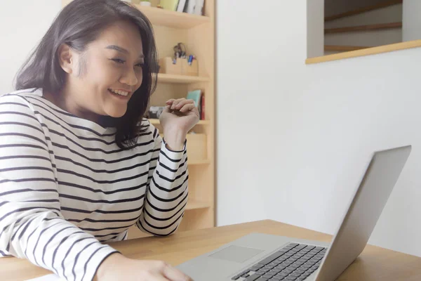
[(53, 22), (61, 0), (0, 1), (0, 94), (13, 91), (13, 79)]

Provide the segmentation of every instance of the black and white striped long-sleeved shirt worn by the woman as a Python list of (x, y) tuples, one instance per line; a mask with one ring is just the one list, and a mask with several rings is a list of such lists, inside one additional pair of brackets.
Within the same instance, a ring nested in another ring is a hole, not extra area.
[(171, 151), (145, 119), (132, 150), (115, 129), (42, 98), (0, 96), (0, 256), (18, 256), (67, 280), (92, 280), (136, 224), (153, 235), (178, 228), (187, 203), (187, 153)]

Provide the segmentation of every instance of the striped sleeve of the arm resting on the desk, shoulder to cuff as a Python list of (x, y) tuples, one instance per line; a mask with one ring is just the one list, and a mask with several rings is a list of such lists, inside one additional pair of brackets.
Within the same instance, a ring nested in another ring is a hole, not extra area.
[(20, 96), (0, 97), (0, 256), (17, 256), (66, 280), (92, 280), (116, 252), (66, 221), (42, 118)]

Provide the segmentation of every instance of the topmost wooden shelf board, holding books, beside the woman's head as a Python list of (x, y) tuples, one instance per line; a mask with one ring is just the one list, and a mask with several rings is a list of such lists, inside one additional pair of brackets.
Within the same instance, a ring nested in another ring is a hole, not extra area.
[(164, 10), (162, 8), (140, 6), (133, 4), (152, 22), (152, 25), (162, 25), (173, 28), (191, 28), (203, 23), (210, 22), (210, 18), (203, 15), (191, 15)]

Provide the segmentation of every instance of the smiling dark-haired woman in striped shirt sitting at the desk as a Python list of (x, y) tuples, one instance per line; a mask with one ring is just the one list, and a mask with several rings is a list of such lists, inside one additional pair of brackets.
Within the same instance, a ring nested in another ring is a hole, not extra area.
[(0, 97), (0, 255), (66, 280), (189, 280), (101, 242), (135, 224), (171, 235), (187, 202), (192, 100), (168, 100), (164, 140), (142, 119), (156, 86), (152, 25), (119, 0), (74, 0)]

